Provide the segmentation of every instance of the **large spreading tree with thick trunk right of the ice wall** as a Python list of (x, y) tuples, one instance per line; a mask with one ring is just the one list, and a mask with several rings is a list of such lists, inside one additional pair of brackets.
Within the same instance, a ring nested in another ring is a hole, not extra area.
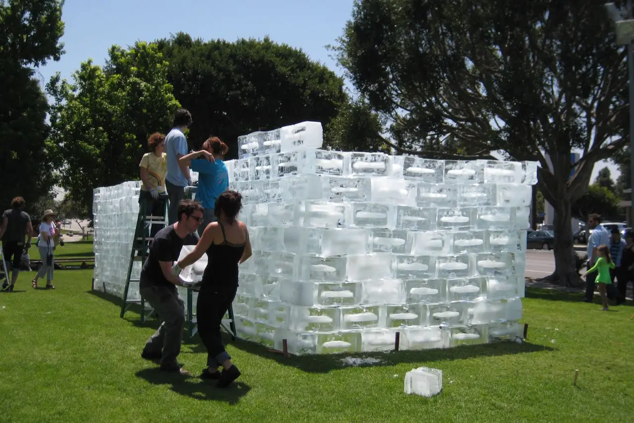
[(397, 151), (540, 162), (560, 235), (549, 279), (579, 283), (571, 205), (627, 126), (625, 53), (603, 1), (357, 0), (335, 53)]

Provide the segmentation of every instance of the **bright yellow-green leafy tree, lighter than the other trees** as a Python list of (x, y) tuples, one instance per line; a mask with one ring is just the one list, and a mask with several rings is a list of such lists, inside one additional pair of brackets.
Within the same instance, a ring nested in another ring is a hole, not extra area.
[(49, 146), (69, 199), (91, 212), (93, 188), (139, 178), (148, 136), (169, 130), (179, 103), (167, 82), (167, 62), (155, 44), (112, 46), (101, 68), (81, 64), (73, 83), (57, 74), (47, 85)]

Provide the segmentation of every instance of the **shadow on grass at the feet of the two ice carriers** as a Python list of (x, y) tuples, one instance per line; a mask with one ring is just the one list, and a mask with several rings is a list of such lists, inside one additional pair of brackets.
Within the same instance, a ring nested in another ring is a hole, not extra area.
[(230, 386), (220, 389), (216, 381), (201, 381), (192, 376), (183, 376), (175, 372), (163, 372), (158, 368), (145, 368), (136, 372), (136, 377), (145, 379), (153, 385), (171, 385), (172, 391), (189, 396), (195, 400), (224, 401), (235, 405), (245, 396), (251, 387), (243, 382), (233, 382)]

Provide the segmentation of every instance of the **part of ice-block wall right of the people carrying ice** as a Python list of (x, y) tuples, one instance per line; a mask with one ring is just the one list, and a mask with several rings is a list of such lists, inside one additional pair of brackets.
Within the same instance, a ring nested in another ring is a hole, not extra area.
[(536, 163), (321, 150), (304, 122), (226, 162), (253, 256), (238, 336), (294, 354), (514, 339)]

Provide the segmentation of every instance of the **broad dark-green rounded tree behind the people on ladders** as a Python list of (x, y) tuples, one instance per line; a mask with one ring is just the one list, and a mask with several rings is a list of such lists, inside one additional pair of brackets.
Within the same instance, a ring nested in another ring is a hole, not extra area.
[(228, 141), (228, 155), (236, 157), (240, 135), (304, 120), (328, 126), (347, 102), (343, 81), (332, 70), (268, 37), (205, 42), (180, 32), (157, 43), (169, 62), (174, 95), (193, 117), (193, 148), (214, 134)]

